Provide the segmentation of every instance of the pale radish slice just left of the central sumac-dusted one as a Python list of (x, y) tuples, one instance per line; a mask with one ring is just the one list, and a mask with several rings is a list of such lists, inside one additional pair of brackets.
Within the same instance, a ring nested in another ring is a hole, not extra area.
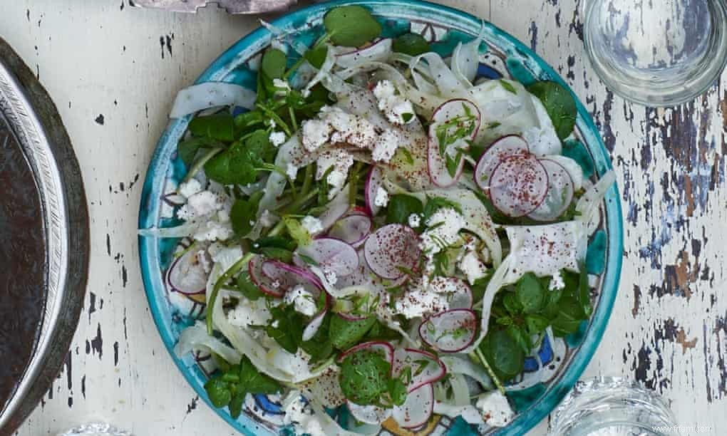
[[(337, 276), (353, 273), (358, 267), (358, 253), (349, 243), (336, 238), (314, 239), (307, 246), (298, 247), (297, 253), (310, 257), (323, 270), (333, 271)], [(305, 267), (307, 263), (300, 256), (293, 258), (295, 265)]]

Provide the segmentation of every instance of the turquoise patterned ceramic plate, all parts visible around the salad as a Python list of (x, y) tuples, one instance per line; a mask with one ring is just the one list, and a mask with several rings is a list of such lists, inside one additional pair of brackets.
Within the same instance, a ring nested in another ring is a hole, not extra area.
[[(289, 32), (291, 39), (310, 45), (323, 33), (321, 20), (326, 11), (340, 4), (363, 4), (369, 7), (382, 23), (386, 36), (396, 36), (409, 31), (421, 33), (432, 41), (433, 49), (444, 56), (451, 53), (458, 41), (473, 39), (483, 26), (481, 20), (465, 12), (412, 0), (333, 1), (300, 9), (273, 21), (273, 25)], [(197, 83), (227, 81), (254, 89), (256, 63), (254, 58), (270, 44), (271, 38), (270, 32), (262, 28), (250, 33), (207, 68)], [(553, 80), (566, 86), (553, 68), (520, 41), (494, 25), (484, 23), (484, 41), (486, 44), (483, 44), (481, 52), (480, 76), (489, 78), (505, 76), (526, 85), (539, 80)], [(249, 62), (251, 59), (253, 62)], [(581, 104), (578, 105), (578, 113), (576, 137), (566, 141), (564, 154), (577, 158), (587, 174), (590, 171), (595, 178), (610, 169), (611, 163), (598, 129)], [(142, 194), (140, 228), (177, 224), (171, 218), (173, 209), (161, 198), (173, 191), (185, 174), (185, 166), (177, 159), (175, 150), (188, 121), (189, 117), (172, 121), (158, 142)], [(527, 389), (515, 390), (508, 394), (518, 412), (516, 419), (503, 429), (474, 429), (468, 427), (462, 419), (435, 417), (419, 434), (475, 435), (477, 432), (483, 432), (523, 435), (553, 410), (582, 374), (598, 347), (608, 316), (611, 314), (621, 271), (623, 245), (621, 217), (619, 196), (614, 186), (606, 194), (606, 200), (601, 207), (599, 228), (589, 242), (587, 266), (589, 273), (598, 276), (594, 289), (593, 318), (590, 323), (583, 324), (579, 334), (571, 335), (565, 341), (543, 344), (542, 350), (538, 353), (539, 358), (547, 368), (550, 368), (545, 380)], [(164, 270), (169, 265), (176, 243), (177, 241), (152, 237), (140, 238), (141, 267), (146, 293), (159, 334), (169, 352), (172, 352), (182, 328), (204, 310), (200, 302), (180, 294), (170, 294), (164, 286)], [(172, 358), (199, 396), (209, 403), (203, 388), (206, 380), (204, 356), (180, 360), (172, 352)], [(527, 371), (533, 371), (536, 366), (537, 363), (532, 358), (526, 362), (524, 376), (527, 377)], [(281, 411), (275, 398), (262, 395), (250, 397), (243, 415), (237, 420), (232, 419), (225, 409), (215, 410), (222, 419), (247, 435), (286, 431), (279, 427)], [(332, 414), (340, 421), (346, 419), (345, 411), (332, 411)], [(383, 432), (389, 435), (399, 433), (398, 429), (388, 426), (385, 426)]]

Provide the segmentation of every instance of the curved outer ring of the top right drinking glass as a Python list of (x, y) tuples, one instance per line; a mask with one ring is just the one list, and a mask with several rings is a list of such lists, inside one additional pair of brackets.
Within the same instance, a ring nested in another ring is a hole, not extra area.
[(591, 35), (590, 23), (599, 13), (598, 6), (606, 0), (583, 0), (581, 8), (584, 17), (584, 46), (587, 57), (593, 69), (604, 84), (615, 94), (625, 100), (651, 107), (669, 107), (681, 105), (694, 100), (707, 92), (720, 77), (727, 66), (727, 0), (704, 0), (710, 7), (712, 31), (710, 33), (710, 47), (704, 56), (695, 60), (702, 66), (705, 62), (707, 68), (693, 68), (693, 74), (688, 82), (673, 84), (659, 84), (648, 86), (648, 83), (629, 76), (618, 68), (608, 66), (608, 62), (596, 53), (596, 47)]

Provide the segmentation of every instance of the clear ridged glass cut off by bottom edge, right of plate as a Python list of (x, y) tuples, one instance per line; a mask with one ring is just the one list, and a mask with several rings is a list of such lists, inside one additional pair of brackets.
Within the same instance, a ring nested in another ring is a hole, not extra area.
[(619, 377), (578, 382), (555, 410), (550, 436), (675, 436), (674, 414), (651, 389)]

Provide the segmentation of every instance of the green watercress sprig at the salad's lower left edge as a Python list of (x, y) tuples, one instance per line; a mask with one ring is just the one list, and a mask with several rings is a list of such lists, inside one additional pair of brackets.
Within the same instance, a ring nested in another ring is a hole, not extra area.
[(238, 365), (230, 366), (209, 379), (204, 384), (204, 390), (214, 407), (229, 406), (230, 415), (237, 418), (247, 393), (275, 394), (281, 391), (281, 385), (257, 371), (250, 360), (243, 357)]

